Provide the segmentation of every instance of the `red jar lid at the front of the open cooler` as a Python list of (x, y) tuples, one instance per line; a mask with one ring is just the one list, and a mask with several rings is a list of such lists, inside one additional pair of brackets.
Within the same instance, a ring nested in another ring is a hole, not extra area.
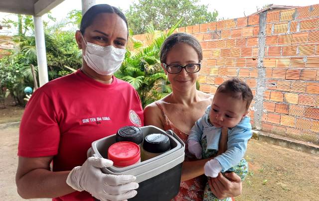
[(126, 167), (137, 163), (140, 156), (140, 147), (133, 142), (117, 142), (108, 150), (108, 159), (117, 167)]

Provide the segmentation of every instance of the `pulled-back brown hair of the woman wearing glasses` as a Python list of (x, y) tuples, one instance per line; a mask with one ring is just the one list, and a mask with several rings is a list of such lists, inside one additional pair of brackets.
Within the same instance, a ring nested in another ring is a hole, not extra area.
[(166, 63), (168, 52), (178, 43), (190, 45), (197, 52), (199, 61), (203, 60), (203, 52), (198, 40), (188, 33), (174, 33), (168, 36), (160, 47), (160, 62)]

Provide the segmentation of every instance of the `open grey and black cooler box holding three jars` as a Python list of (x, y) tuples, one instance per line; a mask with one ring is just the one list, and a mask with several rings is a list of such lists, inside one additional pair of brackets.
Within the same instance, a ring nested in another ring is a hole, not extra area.
[[(102, 168), (105, 174), (134, 175), (139, 183), (138, 194), (129, 201), (169, 201), (179, 191), (185, 144), (171, 130), (163, 131), (155, 126), (140, 127), (144, 138), (148, 134), (161, 133), (169, 137), (170, 150), (163, 154), (124, 168)], [(116, 143), (115, 134), (92, 142), (87, 156), (107, 158), (108, 148)]]

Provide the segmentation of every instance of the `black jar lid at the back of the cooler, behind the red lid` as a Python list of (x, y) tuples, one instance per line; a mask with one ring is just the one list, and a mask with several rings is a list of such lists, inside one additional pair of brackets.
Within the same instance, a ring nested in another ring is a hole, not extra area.
[(143, 142), (143, 134), (139, 127), (125, 126), (118, 130), (115, 136), (116, 142), (134, 142), (141, 144)]

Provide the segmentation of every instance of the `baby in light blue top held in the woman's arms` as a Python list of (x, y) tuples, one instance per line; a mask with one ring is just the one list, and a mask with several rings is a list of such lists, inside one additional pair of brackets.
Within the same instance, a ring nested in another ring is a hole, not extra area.
[[(227, 171), (235, 172), (242, 180), (246, 177), (248, 164), (243, 157), (252, 136), (250, 118), (246, 114), (252, 100), (248, 85), (232, 78), (217, 88), (212, 104), (195, 122), (187, 139), (188, 150), (197, 159), (214, 157), (204, 166), (206, 176), (215, 178), (219, 172)], [(228, 128), (227, 150), (216, 156), (222, 127)], [(216, 200), (207, 183), (204, 201)]]

